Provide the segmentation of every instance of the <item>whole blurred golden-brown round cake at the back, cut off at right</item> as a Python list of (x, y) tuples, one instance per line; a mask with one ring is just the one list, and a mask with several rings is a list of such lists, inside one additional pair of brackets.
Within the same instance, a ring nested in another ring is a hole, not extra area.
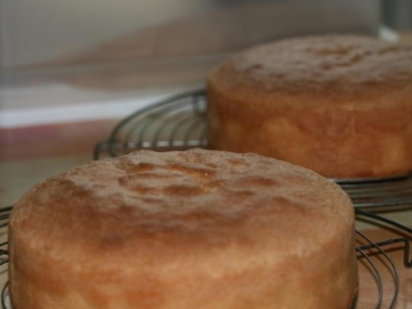
[(207, 100), (211, 148), (331, 178), (412, 170), (412, 47), (349, 35), (261, 45), (211, 71)]

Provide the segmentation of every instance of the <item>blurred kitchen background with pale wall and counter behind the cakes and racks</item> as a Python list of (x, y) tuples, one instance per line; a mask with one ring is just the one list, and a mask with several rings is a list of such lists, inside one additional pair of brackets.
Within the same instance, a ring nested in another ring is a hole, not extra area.
[(408, 44), (411, 29), (411, 0), (0, 0), (0, 203), (233, 52), (323, 33)]

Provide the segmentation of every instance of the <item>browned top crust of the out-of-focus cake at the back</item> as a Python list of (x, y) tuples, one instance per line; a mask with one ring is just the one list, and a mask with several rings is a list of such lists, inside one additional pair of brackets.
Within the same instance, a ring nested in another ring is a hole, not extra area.
[[(412, 47), (358, 35), (279, 40), (217, 65), (209, 83), (222, 91), (380, 94), (412, 86)], [(370, 91), (368, 91), (370, 90)]]

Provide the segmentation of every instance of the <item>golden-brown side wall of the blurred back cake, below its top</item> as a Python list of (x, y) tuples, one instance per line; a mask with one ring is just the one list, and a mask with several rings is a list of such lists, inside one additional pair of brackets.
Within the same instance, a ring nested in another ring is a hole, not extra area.
[(331, 178), (406, 174), (412, 170), (412, 90), (395, 96), (404, 103), (394, 106), (383, 98), (375, 102), (382, 103), (378, 108), (357, 108), (356, 103), (331, 106), (316, 100), (309, 107), (301, 104), (309, 99), (299, 96), (279, 98), (270, 107), (254, 101), (252, 107), (209, 83), (209, 145), (286, 160)]

